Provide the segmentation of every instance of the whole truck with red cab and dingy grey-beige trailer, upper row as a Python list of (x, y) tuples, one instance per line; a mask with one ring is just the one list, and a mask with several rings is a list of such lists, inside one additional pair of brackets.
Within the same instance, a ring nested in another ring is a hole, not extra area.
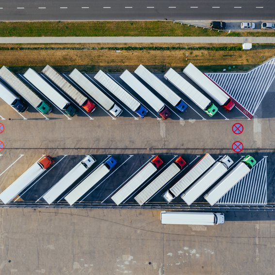
[(66, 81), (54, 68), (47, 65), (42, 73), (46, 75), (53, 83), (61, 88), (69, 97), (77, 102), (88, 113), (93, 113), (96, 110), (96, 105), (87, 97), (83, 96), (75, 87)]

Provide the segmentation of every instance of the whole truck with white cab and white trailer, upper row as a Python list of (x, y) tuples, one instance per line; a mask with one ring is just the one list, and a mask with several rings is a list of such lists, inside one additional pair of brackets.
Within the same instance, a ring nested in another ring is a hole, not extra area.
[(113, 100), (102, 93), (96, 85), (89, 81), (85, 76), (81, 74), (78, 69), (74, 69), (69, 77), (75, 81), (85, 92), (87, 92), (91, 97), (96, 99), (96, 101), (103, 106), (107, 111), (113, 114), (113, 116), (119, 116), (122, 113), (121, 108), (119, 108)]

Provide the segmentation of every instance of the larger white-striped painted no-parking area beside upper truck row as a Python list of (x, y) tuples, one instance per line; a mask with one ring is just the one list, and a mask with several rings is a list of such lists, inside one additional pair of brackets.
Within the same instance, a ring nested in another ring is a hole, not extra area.
[(246, 73), (208, 73), (243, 108), (254, 115), (275, 78), (275, 58)]

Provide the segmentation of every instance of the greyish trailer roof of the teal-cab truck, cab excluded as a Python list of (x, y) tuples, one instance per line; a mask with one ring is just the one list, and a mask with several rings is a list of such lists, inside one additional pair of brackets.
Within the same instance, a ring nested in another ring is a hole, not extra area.
[(42, 100), (35, 95), (32, 90), (20, 81), (16, 75), (14, 75), (7, 67), (2, 66), (0, 68), (0, 77), (6, 81), (13, 89), (20, 94), (22, 97), (26, 98), (33, 106), (37, 107), (40, 105)]

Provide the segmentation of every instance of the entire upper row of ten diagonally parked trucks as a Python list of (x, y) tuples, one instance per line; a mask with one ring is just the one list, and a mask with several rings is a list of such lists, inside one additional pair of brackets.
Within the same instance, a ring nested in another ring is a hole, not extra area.
[[(195, 84), (197, 84), (226, 111), (229, 112), (232, 110), (235, 105), (232, 99), (224, 90), (211, 81), (193, 64), (190, 63), (187, 65), (183, 70), (183, 73), (188, 76), (189, 79), (194, 81)], [(178, 111), (186, 111), (186, 102), (184, 102), (181, 97), (179, 97), (154, 74), (148, 71), (143, 65), (138, 66), (135, 70), (135, 74), (157, 94), (173, 105)], [(67, 77), (65, 75), (62, 76), (51, 66), (47, 65), (42, 70), (42, 74), (38, 74), (33, 69), (29, 68), (23, 76), (29, 86), (13, 74), (7, 67), (2, 66), (0, 69), (0, 78), (22, 98), (16, 96), (14, 92), (5, 87), (1, 82), (0, 97), (6, 103), (14, 107), (17, 112), (25, 112), (28, 109), (28, 101), (34, 108), (43, 114), (51, 112), (52, 104), (63, 110), (69, 116), (74, 116), (78, 110), (76, 106), (72, 104), (71, 100), (73, 100), (87, 113), (92, 113), (96, 110), (96, 104), (90, 99), (93, 98), (93, 100), (114, 116), (119, 116), (122, 113), (122, 109), (110, 98), (111, 96), (108, 97), (104, 94), (100, 89), (98, 89), (96, 86), (98, 84), (93, 79), (89, 76), (84, 76), (77, 69), (74, 69), (69, 74), (69, 77)], [(155, 94), (152, 93), (138, 78), (128, 70), (125, 70), (124, 73), (120, 75), (120, 79), (123, 80), (137, 95), (143, 98), (155, 112), (159, 113), (162, 119), (167, 119), (171, 113), (165, 103), (159, 97), (155, 96)], [(164, 79), (172, 83), (180, 92), (191, 99), (208, 115), (213, 116), (217, 113), (218, 108), (210, 101), (210, 99), (203, 95), (194, 87), (194, 85), (185, 80), (172, 68), (165, 73)], [(108, 74), (105, 74), (100, 70), (95, 75), (95, 80), (140, 117), (143, 118), (146, 113), (148, 113), (146, 107), (143, 106), (137, 98), (126, 91)], [(41, 99), (32, 91), (32, 89), (30, 89), (30, 87), (38, 90), (43, 97), (49, 99), (49, 101)], [(82, 93), (78, 89), (81, 89)], [(85, 93), (85, 95), (83, 95), (83, 93)]]

